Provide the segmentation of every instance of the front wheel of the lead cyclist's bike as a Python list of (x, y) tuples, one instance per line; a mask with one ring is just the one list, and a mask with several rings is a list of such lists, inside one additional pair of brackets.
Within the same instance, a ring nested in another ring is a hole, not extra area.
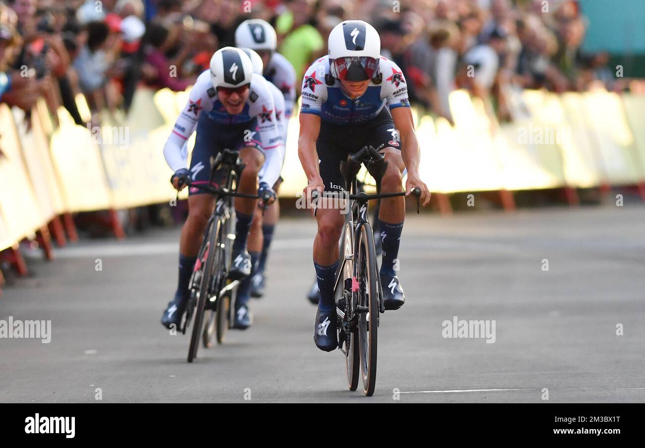
[(356, 260), (357, 332), (363, 391), (372, 396), (376, 385), (377, 334), (379, 319), (379, 285), (376, 270), (374, 237), (369, 223), (364, 223), (358, 232)]

